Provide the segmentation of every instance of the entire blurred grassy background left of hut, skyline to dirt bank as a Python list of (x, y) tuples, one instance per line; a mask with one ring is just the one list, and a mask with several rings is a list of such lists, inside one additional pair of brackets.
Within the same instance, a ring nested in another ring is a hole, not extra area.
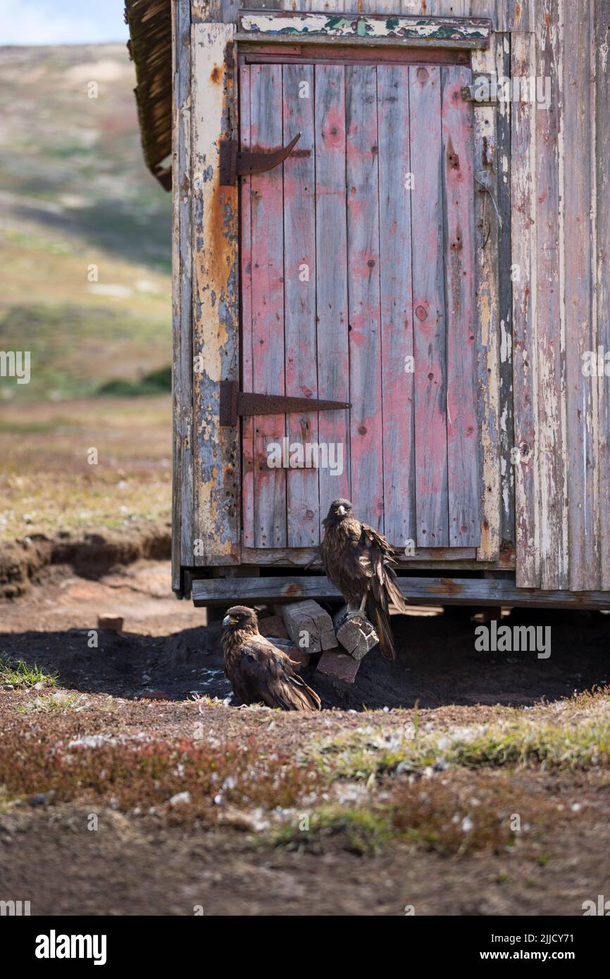
[(31, 373), (0, 377), (0, 542), (168, 519), (170, 199), (134, 85), (122, 44), (0, 49), (0, 351)]

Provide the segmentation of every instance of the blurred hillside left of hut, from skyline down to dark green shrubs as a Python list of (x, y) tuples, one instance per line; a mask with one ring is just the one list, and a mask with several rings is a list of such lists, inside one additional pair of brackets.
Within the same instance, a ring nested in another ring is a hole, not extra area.
[(170, 359), (170, 201), (142, 161), (133, 66), (122, 44), (0, 55), (0, 350), (31, 363), (0, 397), (125, 393)]

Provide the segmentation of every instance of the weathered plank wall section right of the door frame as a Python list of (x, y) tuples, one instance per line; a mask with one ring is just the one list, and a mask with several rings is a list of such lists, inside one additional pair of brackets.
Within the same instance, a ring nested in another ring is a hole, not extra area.
[(549, 85), (513, 102), (517, 583), (608, 588), (608, 379), (583, 355), (608, 345), (610, 4), (534, 15), (511, 38), (513, 76)]

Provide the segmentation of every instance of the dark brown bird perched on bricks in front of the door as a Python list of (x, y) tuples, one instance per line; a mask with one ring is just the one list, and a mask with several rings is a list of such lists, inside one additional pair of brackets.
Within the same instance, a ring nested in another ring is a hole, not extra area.
[(329, 582), (339, 588), (351, 612), (365, 612), (377, 630), (386, 659), (396, 659), (389, 606), (406, 611), (394, 568), (396, 554), (386, 538), (353, 516), (349, 499), (334, 500), (323, 522), (320, 545)]

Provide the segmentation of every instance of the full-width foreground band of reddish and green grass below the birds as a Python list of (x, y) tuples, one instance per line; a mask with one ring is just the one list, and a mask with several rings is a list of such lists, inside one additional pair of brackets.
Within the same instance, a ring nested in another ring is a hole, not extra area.
[[(422, 732), (398, 712), (397, 723), (384, 716), (324, 741), (321, 726), (306, 736), (301, 727), (298, 746), (295, 724), (283, 722), (299, 719), (275, 723), (269, 712), (253, 715), (264, 731), (246, 733), (243, 723), (222, 723), (225, 714), (244, 722), (245, 712), (202, 700), (192, 705), (201, 732), (187, 739), (125, 725), (120, 712), (103, 723), (81, 698), (57, 699), (30, 700), (5, 725), (0, 784), (9, 798), (44, 794), (169, 824), (222, 823), (265, 845), (370, 854), (399, 843), (462, 857), (521, 841), (538, 860), (557, 826), (594, 821), (610, 789), (607, 690), (470, 731)], [(337, 714), (340, 731), (341, 722)]]

